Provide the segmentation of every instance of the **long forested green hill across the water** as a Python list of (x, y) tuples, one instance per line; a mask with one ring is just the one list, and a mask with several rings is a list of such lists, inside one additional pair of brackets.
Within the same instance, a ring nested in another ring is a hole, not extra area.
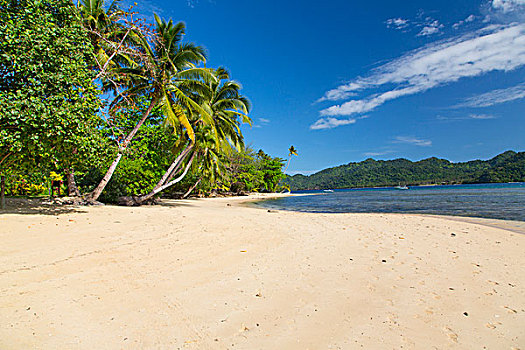
[(482, 161), (451, 163), (428, 158), (418, 162), (407, 159), (374, 160), (348, 163), (321, 170), (310, 176), (301, 174), (286, 179), (292, 190), (355, 188), (376, 186), (523, 182), (525, 152), (507, 151)]

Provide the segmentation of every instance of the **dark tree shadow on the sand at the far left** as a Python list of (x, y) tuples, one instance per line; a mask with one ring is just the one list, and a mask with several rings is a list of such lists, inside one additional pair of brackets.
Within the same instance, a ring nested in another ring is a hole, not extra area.
[(0, 215), (61, 215), (71, 213), (86, 213), (86, 211), (78, 206), (51, 204), (47, 202), (47, 198), (6, 198), (6, 209), (0, 209)]

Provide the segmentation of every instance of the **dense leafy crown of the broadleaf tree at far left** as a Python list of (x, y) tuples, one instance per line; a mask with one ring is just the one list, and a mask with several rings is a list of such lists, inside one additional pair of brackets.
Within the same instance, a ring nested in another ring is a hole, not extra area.
[(98, 158), (92, 47), (69, 0), (0, 0), (0, 166)]

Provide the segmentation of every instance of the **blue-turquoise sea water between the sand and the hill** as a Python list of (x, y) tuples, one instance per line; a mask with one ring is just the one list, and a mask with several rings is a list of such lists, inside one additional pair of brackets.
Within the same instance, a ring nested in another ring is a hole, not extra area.
[(270, 209), (315, 213), (417, 213), (525, 221), (525, 183), (298, 191), (255, 203)]

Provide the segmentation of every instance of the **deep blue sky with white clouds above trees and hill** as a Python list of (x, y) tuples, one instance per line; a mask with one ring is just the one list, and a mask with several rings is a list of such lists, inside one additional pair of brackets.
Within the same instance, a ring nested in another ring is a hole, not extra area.
[[(131, 0), (128, 0), (131, 1)], [(243, 85), (255, 150), (305, 175), (525, 150), (525, 0), (146, 0)]]

